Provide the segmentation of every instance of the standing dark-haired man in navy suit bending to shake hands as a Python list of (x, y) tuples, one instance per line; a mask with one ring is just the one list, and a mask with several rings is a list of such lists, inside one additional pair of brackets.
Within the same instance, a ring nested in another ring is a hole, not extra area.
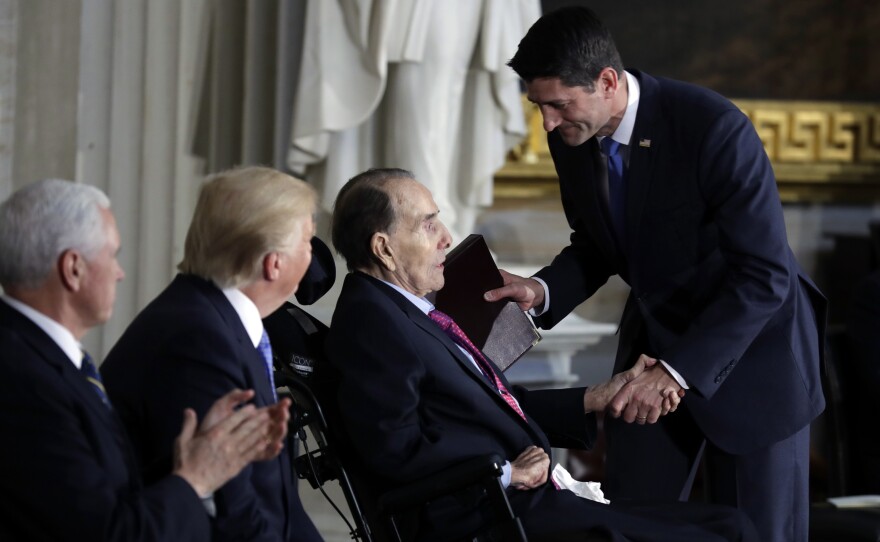
[[(659, 360), (613, 401), (628, 407), (605, 425), (609, 498), (687, 499), (705, 449), (712, 502), (745, 511), (762, 540), (806, 540), (825, 300), (788, 246), (748, 117), (624, 70), (585, 7), (542, 16), (509, 64), (541, 110), (572, 233), (534, 278), (505, 275), (487, 299), (550, 329), (620, 275), (631, 292), (615, 371)], [(670, 386), (689, 390), (684, 408), (644, 425)]]

